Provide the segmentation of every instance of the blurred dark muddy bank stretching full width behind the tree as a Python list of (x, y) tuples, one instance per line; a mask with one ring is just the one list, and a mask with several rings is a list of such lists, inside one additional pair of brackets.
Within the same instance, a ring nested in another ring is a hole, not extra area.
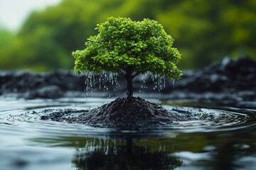
[[(177, 98), (193, 98), (198, 101), (253, 101), (256, 99), (256, 62), (250, 57), (239, 60), (225, 58), (201, 70), (183, 70), (183, 77), (175, 84), (167, 79), (160, 91), (163, 100)], [(32, 72), (14, 71), (0, 72), (0, 95), (14, 95), (18, 98), (61, 98), (85, 97), (85, 76), (78, 76), (70, 71), (54, 71), (36, 74)], [(99, 79), (99, 77), (95, 77)], [(135, 96), (155, 98), (159, 90), (154, 90), (154, 81), (148, 76), (134, 79)], [(125, 96), (126, 82), (117, 77), (120, 86), (114, 87), (110, 82), (95, 84), (95, 94), (112, 94), (114, 98)], [(107, 89), (97, 88), (107, 86)], [(142, 88), (146, 86), (146, 88)], [(139, 91), (142, 91), (139, 93)], [(99, 95), (100, 96), (100, 95)]]

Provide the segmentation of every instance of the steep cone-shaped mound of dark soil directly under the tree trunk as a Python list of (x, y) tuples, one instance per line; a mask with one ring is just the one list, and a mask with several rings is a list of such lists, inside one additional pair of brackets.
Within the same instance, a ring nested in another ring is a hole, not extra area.
[(93, 109), (87, 116), (80, 118), (80, 122), (109, 125), (157, 125), (161, 121), (172, 119), (168, 111), (155, 103), (143, 98), (117, 98), (111, 103)]

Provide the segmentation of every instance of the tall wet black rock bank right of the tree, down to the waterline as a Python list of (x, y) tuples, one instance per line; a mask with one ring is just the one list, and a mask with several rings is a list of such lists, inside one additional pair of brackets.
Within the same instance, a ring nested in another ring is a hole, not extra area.
[(250, 57), (231, 60), (225, 57), (201, 70), (188, 70), (170, 88), (166, 99), (188, 98), (201, 103), (234, 104), (256, 100), (256, 61)]

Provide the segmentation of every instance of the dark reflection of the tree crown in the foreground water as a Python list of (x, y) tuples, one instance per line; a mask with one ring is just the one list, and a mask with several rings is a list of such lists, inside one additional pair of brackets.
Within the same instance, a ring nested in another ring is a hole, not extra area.
[(72, 162), (77, 169), (175, 169), (182, 164), (161, 146), (134, 145), (132, 137), (126, 142), (91, 138)]

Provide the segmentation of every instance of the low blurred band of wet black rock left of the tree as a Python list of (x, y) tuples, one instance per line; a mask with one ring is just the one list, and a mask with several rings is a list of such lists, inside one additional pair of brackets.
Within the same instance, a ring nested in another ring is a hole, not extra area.
[(85, 78), (70, 71), (0, 72), (0, 94), (17, 94), (20, 98), (60, 98), (67, 91), (83, 91)]

